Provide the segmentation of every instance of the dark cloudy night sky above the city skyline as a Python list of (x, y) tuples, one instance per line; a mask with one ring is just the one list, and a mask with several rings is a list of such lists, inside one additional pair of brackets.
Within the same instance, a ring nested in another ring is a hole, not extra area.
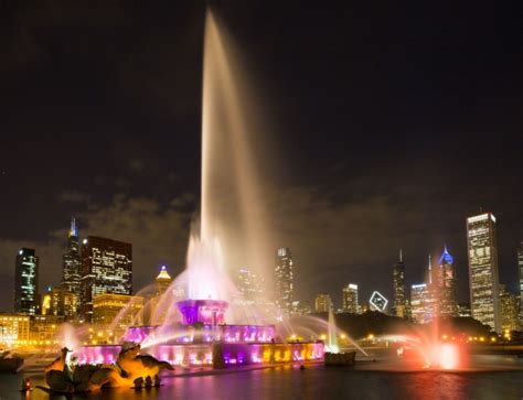
[[(467, 301), (465, 221), (480, 207), (516, 290), (521, 10), (211, 3), (263, 105), (269, 236), (292, 250), (298, 299), (328, 291), (339, 306), (349, 282), (391, 295), (399, 248), (410, 284), (447, 245)], [(0, 15), (0, 309), (19, 247), (40, 255), (41, 285), (58, 283), (72, 216), (82, 237), (132, 242), (136, 289), (162, 263), (181, 271), (199, 209), (204, 2), (2, 2)]]

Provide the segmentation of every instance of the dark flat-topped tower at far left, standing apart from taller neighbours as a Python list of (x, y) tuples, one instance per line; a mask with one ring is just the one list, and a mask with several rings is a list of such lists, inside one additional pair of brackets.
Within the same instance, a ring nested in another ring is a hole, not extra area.
[(39, 258), (34, 249), (20, 249), (14, 267), (14, 312), (34, 315), (39, 309)]

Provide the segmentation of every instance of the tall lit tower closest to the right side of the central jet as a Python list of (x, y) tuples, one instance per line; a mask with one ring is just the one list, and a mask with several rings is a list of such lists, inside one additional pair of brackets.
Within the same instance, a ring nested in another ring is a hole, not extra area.
[(284, 314), (290, 315), (293, 301), (293, 277), (292, 255), (288, 247), (279, 248), (276, 252), (275, 298), (276, 306)]

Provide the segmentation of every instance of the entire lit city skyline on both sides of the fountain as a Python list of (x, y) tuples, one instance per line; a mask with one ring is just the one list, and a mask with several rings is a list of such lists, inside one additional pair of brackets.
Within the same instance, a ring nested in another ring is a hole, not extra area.
[[(467, 218), (470, 303), (458, 303), (455, 258), (445, 246), (440, 256), (428, 257), (425, 279), (406, 285), (405, 262), (399, 251), (392, 266), (393, 299), (378, 291), (369, 301), (361, 300), (359, 284), (344, 283), (341, 306), (334, 307), (330, 293), (319, 293), (313, 304), (298, 300), (295, 293), (295, 263), (291, 250), (276, 250), (274, 298), (267, 299), (264, 278), (248, 268), (235, 277), (238, 304), (255, 306), (280, 317), (317, 313), (378, 311), (419, 324), (435, 317), (471, 316), (498, 333), (523, 326), (523, 242), (517, 249), (520, 291), (510, 293), (499, 282), (497, 220), (491, 213)], [(114, 343), (129, 326), (162, 324), (169, 304), (162, 295), (170, 290), (170, 301), (184, 299), (182, 288), (171, 288), (172, 278), (163, 266), (152, 291), (132, 292), (132, 246), (127, 242), (87, 236), (79, 240), (73, 218), (63, 255), (60, 284), (39, 287), (40, 263), (34, 249), (22, 248), (15, 255), (13, 312), (0, 314), (0, 345), (53, 343), (64, 322), (86, 323), (89, 344)], [(409, 290), (407, 290), (409, 289)]]

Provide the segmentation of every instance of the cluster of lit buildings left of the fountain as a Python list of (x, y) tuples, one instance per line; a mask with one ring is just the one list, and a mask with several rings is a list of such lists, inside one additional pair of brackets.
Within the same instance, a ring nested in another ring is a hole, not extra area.
[[(73, 218), (63, 255), (60, 284), (39, 287), (40, 263), (35, 249), (22, 248), (14, 263), (13, 313), (0, 314), (0, 345), (49, 345), (64, 322), (97, 327), (89, 335), (107, 342), (130, 324), (143, 322), (143, 298), (132, 296), (132, 246), (122, 241), (87, 236), (79, 241)], [(164, 278), (164, 277), (163, 277)], [(129, 311), (115, 317), (127, 307)], [(100, 333), (103, 333), (100, 337)]]

